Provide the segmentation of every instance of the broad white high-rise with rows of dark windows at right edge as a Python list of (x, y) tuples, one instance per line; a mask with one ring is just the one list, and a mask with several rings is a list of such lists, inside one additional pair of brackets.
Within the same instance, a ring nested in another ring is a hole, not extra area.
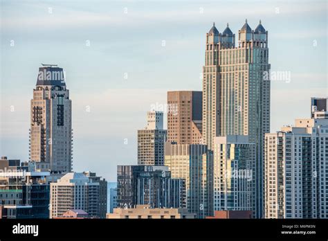
[(266, 134), (264, 166), (266, 218), (328, 218), (327, 118)]

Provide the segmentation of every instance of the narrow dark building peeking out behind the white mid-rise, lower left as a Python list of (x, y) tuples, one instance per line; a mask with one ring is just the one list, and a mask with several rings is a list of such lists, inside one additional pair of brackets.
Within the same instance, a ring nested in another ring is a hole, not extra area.
[(99, 217), (106, 218), (107, 213), (107, 181), (101, 177), (97, 177), (95, 172), (83, 172), (92, 182), (99, 183)]

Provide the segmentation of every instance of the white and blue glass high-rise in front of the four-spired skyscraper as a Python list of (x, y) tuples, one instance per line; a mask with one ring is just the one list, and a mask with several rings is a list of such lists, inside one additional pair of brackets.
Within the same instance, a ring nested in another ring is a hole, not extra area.
[(255, 145), (248, 136), (214, 139), (215, 211), (255, 210)]

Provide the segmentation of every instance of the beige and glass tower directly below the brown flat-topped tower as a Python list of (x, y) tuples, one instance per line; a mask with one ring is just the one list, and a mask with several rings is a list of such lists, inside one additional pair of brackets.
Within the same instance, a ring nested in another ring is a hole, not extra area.
[(206, 145), (165, 143), (165, 166), (173, 178), (185, 179), (187, 208), (197, 218), (213, 212), (212, 156)]

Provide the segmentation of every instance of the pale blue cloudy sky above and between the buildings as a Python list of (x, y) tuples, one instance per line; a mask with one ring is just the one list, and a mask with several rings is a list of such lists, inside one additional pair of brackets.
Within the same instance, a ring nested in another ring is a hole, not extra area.
[[(28, 161), (30, 99), (41, 63), (66, 72), (73, 170), (116, 181), (136, 165), (146, 112), (167, 91), (201, 90), (206, 33), (268, 30), (271, 132), (327, 97), (327, 1), (0, 0), (0, 155)], [(275, 77), (275, 76), (271, 76)], [(166, 122), (166, 121), (165, 121)]]

